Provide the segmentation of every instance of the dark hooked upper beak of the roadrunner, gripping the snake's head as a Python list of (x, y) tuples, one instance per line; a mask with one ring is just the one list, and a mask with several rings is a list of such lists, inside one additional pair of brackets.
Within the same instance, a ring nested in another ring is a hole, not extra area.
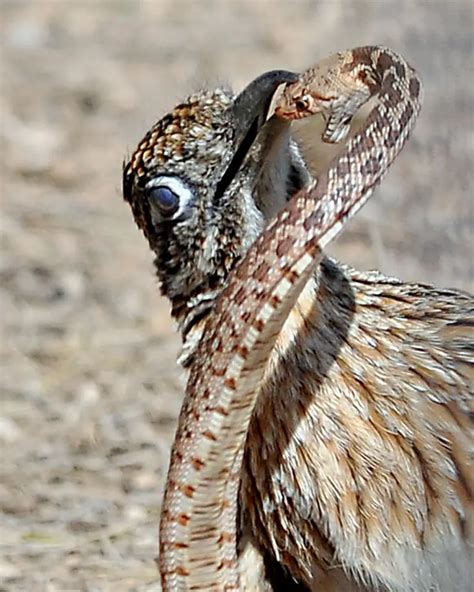
[(234, 124), (234, 156), (216, 187), (217, 200), (227, 189), (267, 120), (273, 95), (280, 84), (294, 82), (298, 75), (286, 70), (271, 70), (253, 80), (229, 107)]

